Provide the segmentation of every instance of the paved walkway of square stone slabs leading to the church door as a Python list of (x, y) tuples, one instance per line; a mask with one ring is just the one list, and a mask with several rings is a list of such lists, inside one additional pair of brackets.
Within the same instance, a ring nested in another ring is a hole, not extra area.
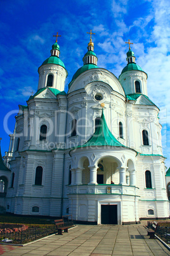
[(170, 255), (157, 239), (149, 239), (143, 225), (77, 225), (63, 236), (49, 236), (3, 255)]

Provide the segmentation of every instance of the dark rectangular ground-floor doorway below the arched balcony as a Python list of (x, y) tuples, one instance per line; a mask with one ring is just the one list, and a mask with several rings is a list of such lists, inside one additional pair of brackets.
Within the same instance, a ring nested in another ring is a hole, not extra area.
[(117, 205), (101, 204), (101, 224), (117, 224)]

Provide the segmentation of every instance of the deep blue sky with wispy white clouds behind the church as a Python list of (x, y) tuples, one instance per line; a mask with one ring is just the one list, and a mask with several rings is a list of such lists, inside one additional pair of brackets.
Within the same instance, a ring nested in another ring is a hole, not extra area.
[[(139, 3), (140, 2), (140, 3)], [(162, 146), (170, 166), (170, 2), (167, 0), (15, 0), (0, 3), (0, 104), (1, 151), (8, 150), (9, 136), (3, 120), (10, 112), (8, 132), (13, 132), (18, 104), (37, 91), (37, 68), (50, 55), (53, 35), (58, 39), (60, 59), (69, 76), (65, 91), (75, 71), (82, 66), (89, 32), (98, 66), (115, 76), (126, 66), (130, 39), (136, 63), (148, 74), (148, 97), (160, 108)]]

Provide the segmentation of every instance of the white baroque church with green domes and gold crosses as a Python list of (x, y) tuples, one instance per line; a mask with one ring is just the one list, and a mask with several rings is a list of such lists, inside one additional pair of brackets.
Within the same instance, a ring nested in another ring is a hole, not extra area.
[(99, 68), (89, 34), (69, 91), (57, 33), (36, 94), (19, 105), (0, 157), (0, 205), (16, 215), (71, 214), (89, 224), (169, 218), (159, 108), (148, 98), (147, 73), (129, 41), (119, 78)]

